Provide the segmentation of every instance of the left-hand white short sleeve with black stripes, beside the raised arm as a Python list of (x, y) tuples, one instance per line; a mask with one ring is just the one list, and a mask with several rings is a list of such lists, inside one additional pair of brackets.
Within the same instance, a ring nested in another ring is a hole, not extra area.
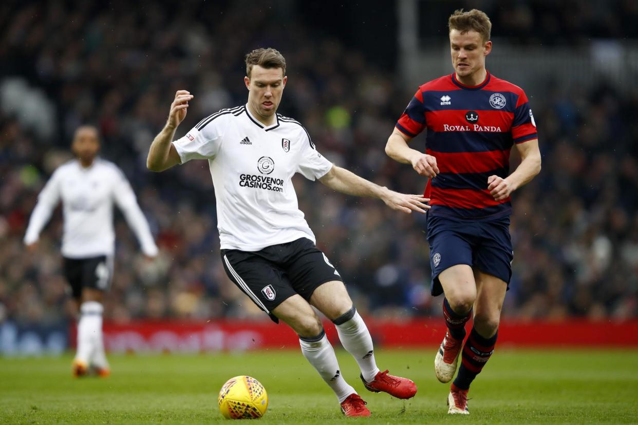
[(173, 142), (182, 164), (191, 159), (214, 159), (221, 145), (221, 127), (224, 121), (223, 116), (204, 119), (184, 137)]

